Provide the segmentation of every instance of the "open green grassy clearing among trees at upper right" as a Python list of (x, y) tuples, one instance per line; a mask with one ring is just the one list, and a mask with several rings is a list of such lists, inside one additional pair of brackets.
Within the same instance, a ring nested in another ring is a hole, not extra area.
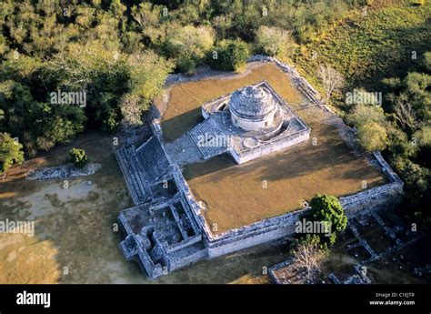
[[(392, 5), (348, 17), (321, 41), (306, 46), (295, 62), (314, 85), (318, 84), (318, 65), (329, 64), (346, 76), (350, 88), (384, 91), (382, 78), (404, 76), (431, 50), (430, 16), (431, 2), (427, 1), (426, 5)], [(312, 58), (314, 51), (316, 58)]]

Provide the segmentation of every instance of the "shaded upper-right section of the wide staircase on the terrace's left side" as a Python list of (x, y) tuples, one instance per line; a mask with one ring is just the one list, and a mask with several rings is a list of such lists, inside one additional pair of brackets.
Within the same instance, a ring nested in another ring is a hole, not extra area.
[(169, 168), (169, 161), (157, 137), (151, 137), (136, 149), (147, 182), (154, 184)]

